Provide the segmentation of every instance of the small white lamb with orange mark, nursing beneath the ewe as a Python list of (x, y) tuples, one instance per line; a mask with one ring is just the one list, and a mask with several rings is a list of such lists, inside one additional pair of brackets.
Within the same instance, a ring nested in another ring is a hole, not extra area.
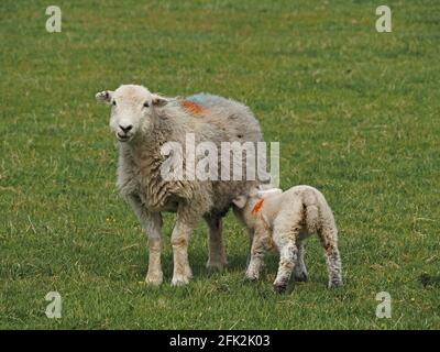
[(260, 187), (233, 202), (237, 217), (253, 237), (248, 278), (258, 278), (264, 253), (275, 244), (280, 258), (274, 289), (283, 293), (293, 272), (296, 280), (307, 280), (304, 242), (317, 233), (324, 249), (329, 287), (342, 285), (338, 230), (331, 209), (318, 189), (296, 186), (283, 193), (278, 188)]

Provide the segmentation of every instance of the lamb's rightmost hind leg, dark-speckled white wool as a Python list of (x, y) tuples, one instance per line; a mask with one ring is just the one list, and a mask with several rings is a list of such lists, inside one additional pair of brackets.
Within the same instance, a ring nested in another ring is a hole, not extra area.
[(338, 250), (338, 230), (334, 224), (323, 227), (318, 231), (324, 249), (327, 268), (329, 271), (329, 287), (342, 285), (341, 256)]

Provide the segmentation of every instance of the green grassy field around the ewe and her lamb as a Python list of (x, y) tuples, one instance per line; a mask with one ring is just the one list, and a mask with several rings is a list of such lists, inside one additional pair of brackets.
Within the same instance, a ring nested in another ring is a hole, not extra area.
[[(439, 329), (440, 4), (386, 1), (47, 1), (0, 3), (0, 328)], [(336, 213), (345, 286), (329, 290), (321, 248), (309, 282), (272, 293), (276, 256), (244, 280), (248, 238), (229, 215), (230, 265), (143, 284), (146, 239), (116, 191), (116, 141), (95, 94), (123, 82), (168, 96), (233, 97), (280, 142), (282, 187), (320, 188)], [(63, 318), (44, 297), (63, 297)], [(376, 293), (393, 299), (377, 319)]]

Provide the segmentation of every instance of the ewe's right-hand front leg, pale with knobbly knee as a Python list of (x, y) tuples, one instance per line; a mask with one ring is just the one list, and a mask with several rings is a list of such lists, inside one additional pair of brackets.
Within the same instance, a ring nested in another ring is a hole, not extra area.
[(197, 220), (186, 213), (185, 211), (177, 210), (176, 224), (172, 233), (174, 271), (173, 271), (173, 286), (186, 285), (193, 277), (193, 272), (188, 261), (188, 243), (189, 235), (195, 228)]

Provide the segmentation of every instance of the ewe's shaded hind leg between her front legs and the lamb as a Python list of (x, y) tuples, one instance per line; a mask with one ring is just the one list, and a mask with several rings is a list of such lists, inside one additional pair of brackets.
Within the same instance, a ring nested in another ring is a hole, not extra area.
[(205, 219), (208, 224), (209, 258), (207, 267), (222, 270), (227, 265), (223, 246), (222, 219), (220, 217)]

